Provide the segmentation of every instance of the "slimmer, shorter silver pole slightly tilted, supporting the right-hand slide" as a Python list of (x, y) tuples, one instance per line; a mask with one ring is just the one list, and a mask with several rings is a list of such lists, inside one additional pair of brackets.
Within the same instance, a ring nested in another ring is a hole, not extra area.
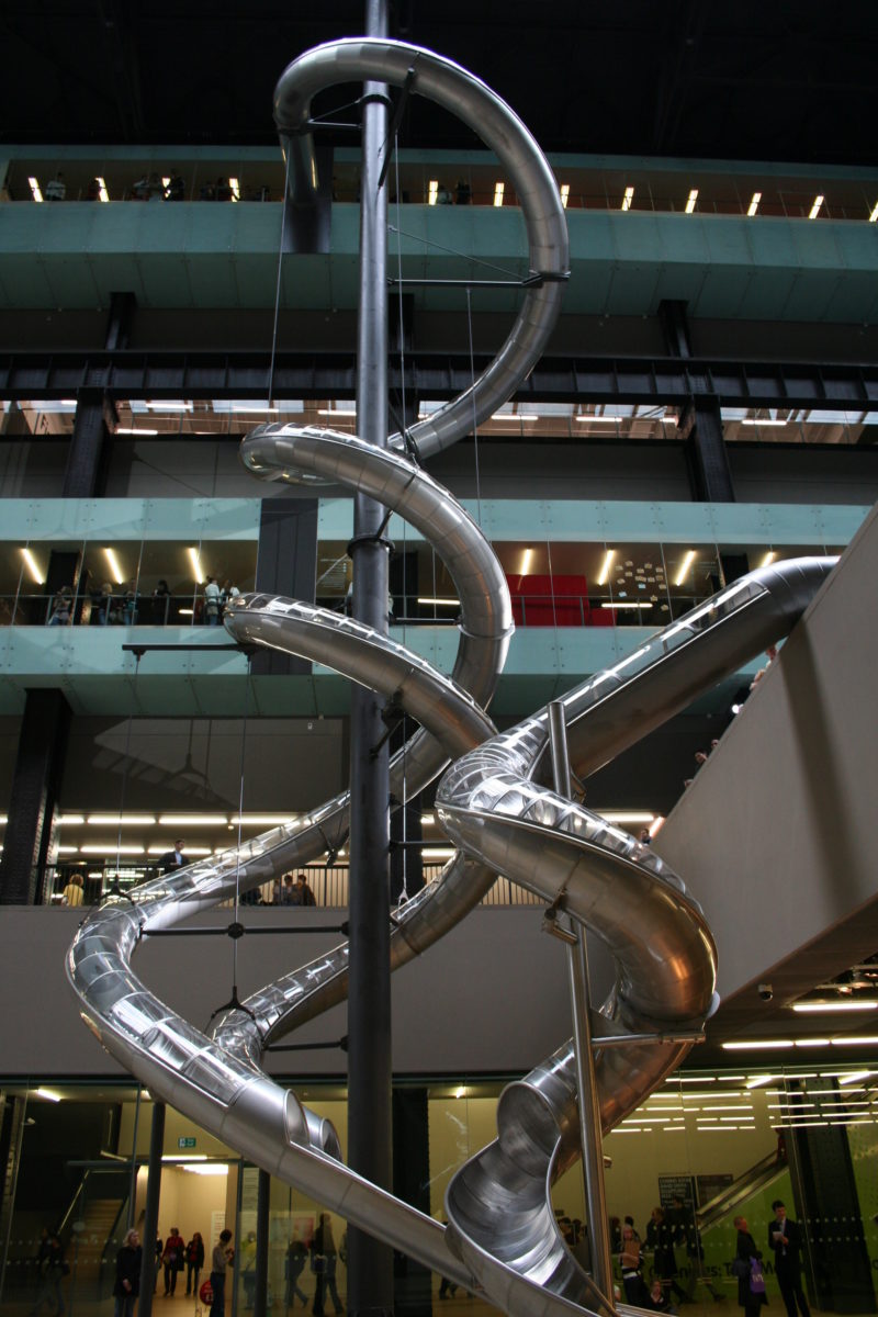
[[(549, 745), (552, 774), (558, 795), (570, 798), (570, 759), (567, 755), (567, 724), (562, 701), (549, 703)], [(591, 1275), (595, 1285), (609, 1306), (613, 1306), (613, 1270), (609, 1249), (609, 1225), (604, 1197), (604, 1150), (600, 1137), (600, 1102), (595, 1080), (595, 1058), (591, 1046), (591, 1001), (588, 993), (588, 960), (586, 931), (570, 927), (577, 940), (567, 948), (570, 1002), (573, 1006), (573, 1048), (577, 1063), (577, 1090), (579, 1094), (579, 1139), (582, 1143), (582, 1169), (588, 1217), (588, 1243), (591, 1246)]]

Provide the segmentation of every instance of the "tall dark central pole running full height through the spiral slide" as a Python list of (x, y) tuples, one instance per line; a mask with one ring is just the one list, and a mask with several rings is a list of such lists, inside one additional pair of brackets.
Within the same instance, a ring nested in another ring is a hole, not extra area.
[[(387, 36), (387, 0), (367, 0), (366, 36)], [(361, 187), (359, 319), (357, 328), (357, 433), (387, 444), (387, 191), (378, 187), (387, 136), (387, 88), (365, 86)], [(354, 616), (387, 630), (384, 510), (354, 500)], [(354, 686), (350, 753), (350, 992), (348, 998), (348, 1150), (350, 1166), (390, 1189), (391, 1013), (388, 843), (390, 785), (380, 701)], [(392, 1312), (392, 1250), (365, 1231), (348, 1230), (348, 1305), (354, 1317)]]

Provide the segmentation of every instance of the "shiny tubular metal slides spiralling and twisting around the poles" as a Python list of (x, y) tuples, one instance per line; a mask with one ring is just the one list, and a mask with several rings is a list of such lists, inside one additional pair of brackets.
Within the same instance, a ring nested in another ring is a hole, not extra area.
[[(311, 97), (341, 80), (401, 83), (478, 126), (509, 169), (521, 198), (530, 266), (546, 274), (499, 357), (463, 399), (388, 449), (330, 431), (269, 425), (245, 440), (244, 461), (271, 479), (333, 481), (369, 494), (415, 525), (448, 564), (461, 599), (461, 644), (452, 677), (388, 637), (295, 601), (251, 594), (225, 624), (257, 641), (326, 664), (394, 697), (421, 724), (391, 766), (396, 798), (416, 793), (453, 761), (437, 790), (437, 817), (458, 852), (441, 877), (398, 913), (394, 968), (424, 952), (482, 898), (496, 873), (563, 909), (600, 936), (616, 984), (595, 1022), (616, 1044), (596, 1054), (604, 1130), (636, 1108), (686, 1054), (715, 1006), (715, 950), (700, 907), (667, 865), (600, 817), (549, 790), (546, 711), (496, 735), (484, 707), (512, 631), (503, 573), (478, 527), (403, 449), (421, 456), (453, 443), (494, 411), (533, 366), (558, 311), (566, 274), (563, 212), (552, 174), (515, 115), (487, 87), (437, 55), (398, 42), (342, 41), (308, 51), (278, 87), (275, 117), (305, 180), (308, 138), (296, 130)], [(803, 558), (752, 573), (673, 623), (565, 697), (571, 765), (592, 772), (684, 707), (699, 691), (786, 635), (832, 566)], [(150, 932), (341, 844), (344, 794), (238, 849), (115, 900), (82, 925), (67, 975), (84, 1022), (150, 1092), (270, 1173), (515, 1314), (602, 1308), (566, 1250), (550, 1202), (553, 1180), (578, 1155), (571, 1044), (509, 1085), (499, 1137), (453, 1179), (449, 1229), (370, 1184), (340, 1160), (332, 1126), (261, 1069), (265, 1048), (344, 1001), (348, 948), (269, 984), (212, 1036), (175, 1015), (133, 973)], [(619, 1046), (620, 1035), (625, 1039)]]

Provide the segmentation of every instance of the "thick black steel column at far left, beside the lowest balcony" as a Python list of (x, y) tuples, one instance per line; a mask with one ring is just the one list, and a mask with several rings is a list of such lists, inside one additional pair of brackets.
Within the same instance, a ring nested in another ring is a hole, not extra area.
[(0, 861), (0, 905), (33, 905), (42, 898), (70, 716), (61, 690), (26, 693)]

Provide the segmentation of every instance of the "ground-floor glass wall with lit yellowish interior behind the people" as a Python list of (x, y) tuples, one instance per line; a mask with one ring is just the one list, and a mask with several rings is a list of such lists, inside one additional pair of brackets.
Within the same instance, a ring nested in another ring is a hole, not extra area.
[[(816, 1052), (820, 1055), (821, 1052)], [(420, 1210), (444, 1218), (453, 1173), (496, 1137), (503, 1081), (459, 1076), (395, 1090), (398, 1192)], [(300, 1098), (330, 1119), (346, 1143), (345, 1089), (307, 1083)], [(129, 1225), (142, 1226), (151, 1102), (132, 1085), (4, 1085), (3, 1134), (14, 1175), (4, 1214), (4, 1312), (36, 1301), (45, 1251), (41, 1233), (58, 1231), (68, 1267), (58, 1281), (68, 1308), (105, 1313), (115, 1259)], [(803, 1231), (803, 1279), (811, 1305), (823, 1312), (875, 1310), (878, 1271), (878, 1069), (874, 1063), (686, 1072), (667, 1080), (607, 1135), (607, 1212), (612, 1231), (632, 1217), (644, 1250), (646, 1284), (662, 1279), (674, 1305), (737, 1306), (732, 1275), (744, 1217), (763, 1254), (771, 1305), (782, 1310), (769, 1233), (771, 1204), (782, 1200)], [(577, 1164), (553, 1189), (558, 1229), (588, 1263), (582, 1172)], [(673, 1268), (657, 1276), (657, 1212), (673, 1247)], [(346, 1222), (296, 1189), (271, 1181), (269, 1293), (272, 1310), (299, 1300), (312, 1305), (321, 1276), (312, 1267), (315, 1233), (326, 1213), (325, 1241), (336, 1250), (332, 1276), (346, 1300)], [(159, 1237), (176, 1229), (188, 1243), (197, 1231), (208, 1250), (221, 1229), (233, 1230), (238, 1310), (255, 1287), (257, 1171), (204, 1130), (167, 1110)], [(617, 1234), (616, 1234), (617, 1239)], [(158, 1254), (158, 1246), (157, 1246)], [(199, 1280), (205, 1277), (209, 1262)], [(671, 1270), (673, 1274), (667, 1275)], [(396, 1258), (398, 1306), (455, 1297), (442, 1277)], [(168, 1276), (186, 1299), (195, 1276)], [(616, 1271), (617, 1283), (621, 1275)], [(165, 1292), (165, 1268), (157, 1276)], [(325, 1305), (333, 1293), (329, 1276)], [(442, 1291), (440, 1293), (440, 1289)], [(457, 1291), (457, 1299), (465, 1295)], [(478, 1300), (467, 1299), (467, 1309)]]

